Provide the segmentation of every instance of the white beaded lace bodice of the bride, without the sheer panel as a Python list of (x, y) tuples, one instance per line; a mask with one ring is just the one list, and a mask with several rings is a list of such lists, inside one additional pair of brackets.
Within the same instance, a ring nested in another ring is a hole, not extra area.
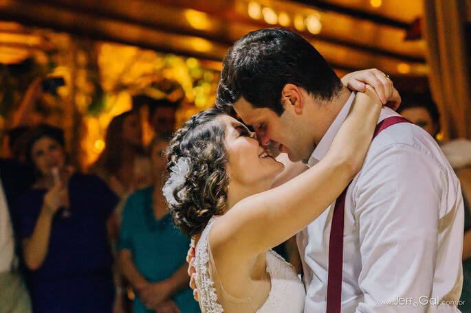
[[(202, 313), (223, 313), (224, 308), (217, 302), (214, 282), (210, 279), (210, 254), (208, 235), (216, 218), (212, 218), (196, 246), (195, 269)], [(276, 252), (267, 251), (266, 270), (270, 275), (272, 288), (267, 300), (255, 313), (303, 313), (305, 288), (298, 279), (294, 268)]]

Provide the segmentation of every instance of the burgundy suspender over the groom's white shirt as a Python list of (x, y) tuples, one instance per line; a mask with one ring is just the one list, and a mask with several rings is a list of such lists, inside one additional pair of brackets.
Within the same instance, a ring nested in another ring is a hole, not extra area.
[[(373, 139), (384, 129), (397, 123), (410, 123), (400, 116), (387, 117), (377, 124)], [(350, 184), (349, 184), (350, 185)], [(329, 277), (327, 281), (327, 313), (340, 313), (342, 304), (342, 264), (345, 194), (347, 188), (337, 198), (333, 208), (332, 226), (329, 240)]]

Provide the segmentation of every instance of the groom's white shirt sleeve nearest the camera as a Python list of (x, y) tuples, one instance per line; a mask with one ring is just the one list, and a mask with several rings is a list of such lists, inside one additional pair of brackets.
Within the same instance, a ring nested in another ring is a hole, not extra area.
[(407, 145), (364, 165), (353, 189), (364, 293), (356, 312), (428, 311), (443, 189), (437, 166)]

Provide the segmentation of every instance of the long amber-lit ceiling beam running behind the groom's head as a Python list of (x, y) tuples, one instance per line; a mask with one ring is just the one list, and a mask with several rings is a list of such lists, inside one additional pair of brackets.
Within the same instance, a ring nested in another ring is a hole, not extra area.
[[(127, 45), (137, 45), (144, 49), (172, 52), (184, 56), (196, 56), (209, 60), (221, 60), (226, 54), (230, 43), (208, 40), (201, 36), (182, 34), (182, 30), (164, 29), (163, 27), (144, 27), (116, 21), (101, 16), (99, 12), (68, 10), (55, 6), (37, 4), (30, 5), (30, 0), (14, 1), (13, 5), (6, 7), (0, 5), (0, 19), (17, 21), (25, 25), (50, 27), (60, 32), (69, 32), (75, 36), (82, 36), (94, 40), (113, 41)], [(95, 15), (94, 15), (95, 14)], [(245, 32), (245, 31), (244, 31)], [(319, 51), (325, 55), (333, 67), (347, 70), (378, 67), (388, 73), (397, 72), (400, 59), (371, 54), (368, 51), (353, 49), (328, 43), (322, 40), (313, 40)], [(425, 75), (425, 65), (419, 62), (410, 62), (411, 73), (419, 76)]]

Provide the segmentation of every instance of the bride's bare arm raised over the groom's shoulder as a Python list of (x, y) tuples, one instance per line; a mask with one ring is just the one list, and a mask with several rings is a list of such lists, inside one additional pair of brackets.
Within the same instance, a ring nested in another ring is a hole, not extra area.
[(322, 161), (279, 187), (241, 200), (215, 223), (209, 238), (215, 256), (237, 253), (238, 259), (252, 259), (315, 220), (360, 171), (380, 111), (371, 89), (368, 95), (358, 93)]

